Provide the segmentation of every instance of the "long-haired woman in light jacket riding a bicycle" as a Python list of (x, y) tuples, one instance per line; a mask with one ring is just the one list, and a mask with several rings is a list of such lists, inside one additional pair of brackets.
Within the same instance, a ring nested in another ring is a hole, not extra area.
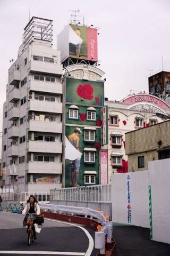
[[(24, 220), (23, 220), (23, 227), (28, 225), (28, 229), (29, 229), (29, 224), (27, 222), (27, 215), (29, 213), (36, 213), (36, 215), (40, 215), (40, 207), (38, 205), (37, 199), (34, 196), (29, 197), (27, 204), (25, 205), (24, 210), (22, 211), (22, 214), (26, 214), (24, 217)], [(36, 219), (33, 220), (33, 224), (35, 224), (35, 223), (37, 223)], [(27, 229), (27, 232), (28, 232), (28, 229)], [(34, 239), (36, 239), (37, 238), (36, 230), (35, 230), (34, 226), (32, 226), (32, 230), (33, 230)]]

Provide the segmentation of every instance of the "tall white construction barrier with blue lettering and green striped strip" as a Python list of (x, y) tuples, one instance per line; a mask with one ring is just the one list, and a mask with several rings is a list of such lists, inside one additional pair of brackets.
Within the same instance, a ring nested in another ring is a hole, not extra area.
[(148, 169), (112, 175), (112, 220), (150, 228), (151, 239), (170, 243), (170, 159)]

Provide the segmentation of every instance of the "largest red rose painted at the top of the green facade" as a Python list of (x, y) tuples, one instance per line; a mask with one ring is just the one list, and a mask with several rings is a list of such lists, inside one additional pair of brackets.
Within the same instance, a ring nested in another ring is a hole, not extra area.
[(77, 87), (77, 94), (84, 100), (92, 100), (94, 98), (94, 89), (91, 84), (79, 84)]

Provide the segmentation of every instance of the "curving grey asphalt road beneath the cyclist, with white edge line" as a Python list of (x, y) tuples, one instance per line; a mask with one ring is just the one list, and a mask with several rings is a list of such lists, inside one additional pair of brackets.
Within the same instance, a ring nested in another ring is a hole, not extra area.
[(23, 215), (0, 212), (0, 255), (86, 255), (95, 256), (95, 232), (86, 227), (45, 219), (37, 240), (27, 245)]

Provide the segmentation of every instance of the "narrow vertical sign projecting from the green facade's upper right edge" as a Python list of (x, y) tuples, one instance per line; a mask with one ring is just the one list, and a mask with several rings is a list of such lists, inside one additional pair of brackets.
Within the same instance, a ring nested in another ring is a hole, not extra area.
[(102, 108), (102, 145), (108, 144), (108, 107)]

